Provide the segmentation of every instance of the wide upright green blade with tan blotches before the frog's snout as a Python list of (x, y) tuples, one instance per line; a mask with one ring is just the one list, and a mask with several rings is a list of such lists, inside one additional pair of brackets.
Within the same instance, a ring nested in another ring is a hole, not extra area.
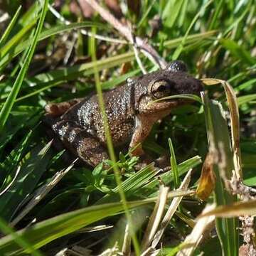
[[(236, 196), (231, 195), (225, 186), (234, 169), (228, 124), (220, 103), (208, 100), (206, 95), (203, 96), (203, 103), (210, 154), (215, 159), (215, 202), (217, 206), (228, 205), (236, 201)], [(238, 219), (217, 218), (215, 223), (223, 255), (238, 255)]]

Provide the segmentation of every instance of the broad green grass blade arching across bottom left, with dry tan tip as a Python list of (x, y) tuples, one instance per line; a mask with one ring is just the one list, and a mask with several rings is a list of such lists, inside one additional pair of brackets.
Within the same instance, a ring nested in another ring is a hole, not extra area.
[[(169, 193), (169, 198), (174, 196), (190, 195), (191, 191), (172, 191)], [(154, 203), (156, 198), (150, 198), (140, 201), (127, 202), (129, 209), (144, 206), (149, 203)], [(98, 220), (102, 220), (111, 215), (121, 213), (124, 210), (122, 203), (107, 203), (99, 206), (89, 206), (80, 210), (75, 210), (70, 213), (64, 213), (54, 218), (44, 220), (30, 228), (25, 228), (18, 231), (20, 235), (33, 245), (34, 248), (42, 247), (57, 238), (73, 233), (80, 228), (83, 228)], [(0, 239), (0, 255), (14, 253), (15, 255), (23, 254), (24, 250), (14, 242), (14, 238), (8, 235)], [(27, 253), (29, 250), (26, 251)]]

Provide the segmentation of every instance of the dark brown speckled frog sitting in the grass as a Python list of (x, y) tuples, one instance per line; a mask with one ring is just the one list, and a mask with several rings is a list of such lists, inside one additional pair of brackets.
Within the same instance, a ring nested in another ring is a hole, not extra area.
[[(191, 100), (171, 95), (199, 95), (201, 80), (188, 73), (185, 63), (174, 60), (166, 68), (127, 79), (123, 85), (103, 92), (112, 144), (115, 149), (129, 146), (132, 156), (146, 156), (142, 144), (151, 128)], [(49, 103), (43, 122), (68, 151), (89, 166), (109, 159), (107, 139), (97, 94), (68, 102)]]

